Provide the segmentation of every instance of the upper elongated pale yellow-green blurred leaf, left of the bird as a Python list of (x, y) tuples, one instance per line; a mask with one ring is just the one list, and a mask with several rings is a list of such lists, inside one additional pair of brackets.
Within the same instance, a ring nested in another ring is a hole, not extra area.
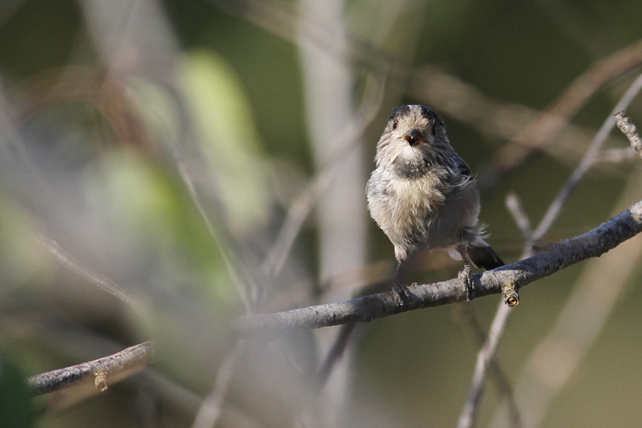
[(230, 226), (248, 230), (266, 219), (269, 202), (252, 107), (222, 57), (198, 50), (181, 65), (181, 85)]

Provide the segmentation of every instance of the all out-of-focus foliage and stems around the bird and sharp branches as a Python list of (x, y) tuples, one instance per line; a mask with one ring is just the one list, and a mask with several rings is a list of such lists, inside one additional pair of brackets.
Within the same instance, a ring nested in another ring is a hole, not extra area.
[[(488, 242), (518, 260), (507, 195), (535, 230), (642, 71), (641, 19), (636, 0), (2, 1), (0, 425), (456, 425), (500, 296), (349, 335), (239, 340), (234, 320), (389, 290), (365, 186), (403, 103), (440, 112)], [(535, 244), (597, 227), (640, 180), (612, 132)], [(642, 425), (641, 249), (521, 290), (497, 354), (520, 420), (491, 376), (478, 426)], [(432, 253), (407, 281), (460, 269)], [(151, 368), (106, 392), (24, 389), (147, 340)]]

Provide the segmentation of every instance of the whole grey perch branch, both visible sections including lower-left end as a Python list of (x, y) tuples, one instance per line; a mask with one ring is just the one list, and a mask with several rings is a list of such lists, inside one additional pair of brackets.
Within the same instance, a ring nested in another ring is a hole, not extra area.
[[(511, 286), (519, 289), (582, 260), (599, 257), (640, 232), (642, 232), (642, 201), (583, 235), (558, 244), (548, 244), (534, 256), (512, 265), (475, 274), (473, 297), (501, 293), (502, 288)], [(396, 313), (466, 300), (466, 290), (459, 279), (410, 286), (408, 289), (410, 291), (408, 304), (398, 304), (394, 292), (389, 291), (347, 302), (322, 304), (279, 313), (242, 316), (237, 319), (236, 328), (240, 334), (248, 335), (296, 328), (329, 327), (355, 321), (367, 322)], [(87, 382), (89, 379), (93, 379), (96, 388), (103, 391), (107, 389), (109, 378), (122, 378), (133, 374), (146, 367), (149, 362), (151, 362), (151, 342), (144, 342), (108, 357), (33, 376), (27, 379), (26, 383), (27, 388), (34, 395), (68, 388)]]

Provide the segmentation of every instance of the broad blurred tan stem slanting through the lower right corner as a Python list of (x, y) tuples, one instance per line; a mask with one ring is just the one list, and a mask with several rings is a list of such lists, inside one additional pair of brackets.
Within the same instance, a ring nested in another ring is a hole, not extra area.
[[(639, 197), (640, 179), (639, 170), (629, 179), (620, 203)], [(565, 388), (595, 344), (618, 298), (634, 277), (641, 255), (642, 242), (632, 239), (617, 251), (587, 264), (551, 331), (532, 351), (516, 383), (515, 399), (525, 427), (541, 425), (551, 400)], [(501, 412), (495, 415), (491, 426), (499, 425)]]

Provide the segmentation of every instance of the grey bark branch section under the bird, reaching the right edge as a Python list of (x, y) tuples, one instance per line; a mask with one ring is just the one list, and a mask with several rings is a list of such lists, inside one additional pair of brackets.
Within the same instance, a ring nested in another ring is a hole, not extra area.
[[(570, 265), (599, 257), (621, 242), (642, 231), (642, 201), (601, 226), (572, 239), (548, 244), (534, 256), (474, 275), (475, 298), (501, 293), (502, 288), (519, 289)], [(242, 316), (236, 328), (241, 334), (278, 332), (341, 325), (354, 321), (372, 321), (396, 313), (466, 300), (465, 287), (459, 279), (410, 286), (408, 304), (397, 304), (394, 293), (367, 295), (346, 302), (321, 304), (279, 313)]]

